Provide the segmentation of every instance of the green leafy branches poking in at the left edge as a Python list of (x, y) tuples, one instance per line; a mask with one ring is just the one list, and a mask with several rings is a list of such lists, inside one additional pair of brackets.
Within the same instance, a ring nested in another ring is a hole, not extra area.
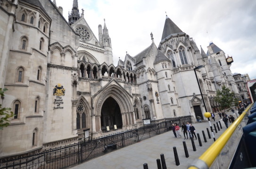
[[(1, 98), (4, 97), (4, 92), (8, 89), (0, 88), (0, 95)], [(2, 105), (0, 104), (0, 130), (2, 130), (4, 127), (7, 127), (10, 122), (10, 118), (13, 116), (13, 112), (11, 111), (11, 108), (2, 108)]]

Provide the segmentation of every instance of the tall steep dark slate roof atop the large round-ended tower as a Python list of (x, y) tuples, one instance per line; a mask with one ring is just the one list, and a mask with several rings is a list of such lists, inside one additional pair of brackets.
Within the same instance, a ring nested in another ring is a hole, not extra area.
[(168, 16), (166, 16), (162, 40), (166, 38), (168, 35), (174, 33), (182, 33), (182, 30), (175, 23), (173, 23), (173, 21), (170, 18), (168, 18)]

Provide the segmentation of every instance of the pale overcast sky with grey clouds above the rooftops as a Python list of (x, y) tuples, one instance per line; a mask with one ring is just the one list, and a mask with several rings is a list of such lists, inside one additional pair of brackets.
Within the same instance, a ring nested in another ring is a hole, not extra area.
[[(67, 19), (73, 0), (56, 0)], [(165, 12), (198, 48), (207, 52), (212, 41), (226, 56), (232, 56), (232, 73), (256, 78), (256, 0), (78, 0), (79, 12), (94, 35), (106, 25), (112, 41), (114, 65), (124, 61), (126, 51), (135, 56), (162, 38)], [(208, 33), (206, 33), (208, 32)]]

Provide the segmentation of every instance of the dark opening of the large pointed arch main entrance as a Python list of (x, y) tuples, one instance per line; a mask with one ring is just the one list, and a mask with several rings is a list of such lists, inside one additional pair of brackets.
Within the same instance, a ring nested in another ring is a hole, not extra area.
[(122, 115), (121, 110), (115, 99), (108, 97), (101, 108), (101, 130), (106, 131), (106, 127), (109, 126), (110, 130), (114, 129), (114, 125), (117, 129), (122, 129)]

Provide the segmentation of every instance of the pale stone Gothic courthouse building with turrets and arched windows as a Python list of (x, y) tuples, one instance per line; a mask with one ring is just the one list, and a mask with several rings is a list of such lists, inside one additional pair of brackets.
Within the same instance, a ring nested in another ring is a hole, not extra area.
[(0, 101), (15, 113), (0, 131), (0, 157), (98, 138), (108, 128), (204, 119), (218, 111), (216, 89), (235, 83), (220, 48), (200, 51), (167, 16), (158, 47), (151, 33), (149, 47), (115, 66), (105, 21), (96, 37), (77, 0), (68, 21), (51, 0), (1, 0), (0, 15), (0, 87), (8, 88)]

